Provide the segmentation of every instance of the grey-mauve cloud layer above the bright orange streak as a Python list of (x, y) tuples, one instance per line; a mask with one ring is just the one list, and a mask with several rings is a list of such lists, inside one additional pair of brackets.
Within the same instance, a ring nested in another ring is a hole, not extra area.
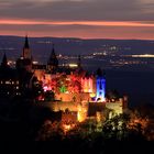
[(154, 3), (145, 0), (44, 1), (10, 0), (0, 2), (0, 16), (42, 20), (154, 20)]

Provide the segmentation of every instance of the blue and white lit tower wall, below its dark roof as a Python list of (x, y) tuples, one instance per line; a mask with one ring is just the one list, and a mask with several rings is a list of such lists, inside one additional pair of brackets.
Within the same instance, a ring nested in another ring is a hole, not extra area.
[(97, 101), (105, 101), (106, 94), (106, 79), (103, 77), (97, 77)]

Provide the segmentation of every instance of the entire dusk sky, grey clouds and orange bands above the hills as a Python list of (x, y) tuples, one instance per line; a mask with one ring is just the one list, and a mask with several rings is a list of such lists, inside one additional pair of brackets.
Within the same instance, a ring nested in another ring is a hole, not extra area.
[(0, 0), (0, 34), (154, 40), (154, 0)]

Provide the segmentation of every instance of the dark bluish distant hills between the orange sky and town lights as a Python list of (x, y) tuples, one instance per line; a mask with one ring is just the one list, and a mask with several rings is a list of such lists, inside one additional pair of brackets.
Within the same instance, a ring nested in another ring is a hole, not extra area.
[[(34, 58), (44, 62), (55, 44), (56, 54), (63, 55), (89, 55), (92, 53), (108, 52), (116, 47), (117, 55), (153, 54), (154, 41), (148, 40), (81, 40), (74, 37), (31, 37), (30, 47)], [(6, 51), (9, 58), (16, 58), (22, 52), (24, 36), (0, 35), (0, 57)], [(1, 61), (1, 59), (0, 59)]]

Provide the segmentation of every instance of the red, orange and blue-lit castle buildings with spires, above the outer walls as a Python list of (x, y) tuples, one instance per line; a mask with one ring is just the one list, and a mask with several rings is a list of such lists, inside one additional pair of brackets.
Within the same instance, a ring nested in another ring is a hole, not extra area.
[(76, 69), (64, 67), (62, 70), (54, 45), (46, 65), (33, 64), (28, 36), (25, 36), (22, 56), (16, 61), (16, 68), (33, 74), (33, 77), (42, 84), (44, 91), (52, 90), (55, 94), (56, 100), (105, 102), (106, 79), (101, 69), (98, 69), (96, 75), (88, 74), (82, 69), (80, 56), (77, 66)]

